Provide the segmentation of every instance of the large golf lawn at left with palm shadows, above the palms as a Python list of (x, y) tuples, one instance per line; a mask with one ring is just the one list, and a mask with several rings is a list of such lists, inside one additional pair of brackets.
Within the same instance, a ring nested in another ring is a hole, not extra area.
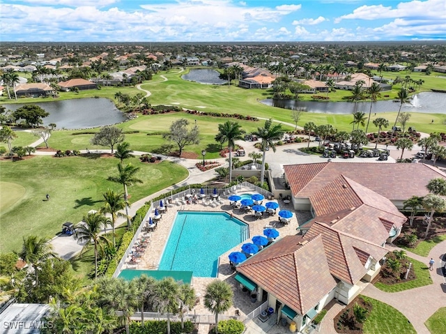
[[(148, 164), (131, 158), (140, 167), (137, 177), (142, 184), (128, 188), (130, 202), (167, 188), (187, 177), (187, 170), (167, 160)], [(26, 189), (22, 199), (8, 211), (0, 213), (1, 252), (17, 250), (22, 236), (31, 234), (52, 238), (61, 230), (63, 222), (77, 223), (91, 209), (102, 206), (102, 193), (111, 188), (123, 192), (120, 184), (107, 181), (116, 176), (116, 158), (82, 156), (53, 158), (36, 156), (29, 160), (0, 161), (0, 179)], [(3, 192), (3, 191), (2, 191)], [(50, 200), (45, 200), (45, 195)]]

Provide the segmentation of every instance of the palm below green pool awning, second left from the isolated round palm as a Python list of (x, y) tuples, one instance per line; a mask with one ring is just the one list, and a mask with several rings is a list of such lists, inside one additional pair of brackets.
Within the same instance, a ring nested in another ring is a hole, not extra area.
[(155, 284), (151, 303), (162, 314), (167, 313), (167, 334), (170, 334), (170, 314), (178, 312), (180, 286), (171, 277), (163, 278)]

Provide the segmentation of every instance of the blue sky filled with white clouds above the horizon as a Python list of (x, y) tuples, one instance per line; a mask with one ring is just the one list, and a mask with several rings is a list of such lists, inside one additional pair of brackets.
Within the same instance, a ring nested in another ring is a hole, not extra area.
[(445, 0), (1, 0), (0, 40), (446, 40)]

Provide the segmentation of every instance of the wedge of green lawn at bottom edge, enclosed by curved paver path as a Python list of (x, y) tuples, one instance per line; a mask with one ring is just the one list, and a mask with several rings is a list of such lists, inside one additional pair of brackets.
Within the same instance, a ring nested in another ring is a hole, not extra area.
[(417, 333), (408, 319), (396, 308), (373, 298), (366, 296), (361, 296), (361, 298), (373, 305), (371, 313), (364, 322), (364, 334)]

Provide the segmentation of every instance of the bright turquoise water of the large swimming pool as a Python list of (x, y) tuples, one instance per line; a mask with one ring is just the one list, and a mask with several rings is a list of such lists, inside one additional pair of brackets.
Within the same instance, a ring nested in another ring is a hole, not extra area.
[(248, 226), (228, 213), (178, 212), (158, 270), (217, 277), (218, 257), (249, 238), (248, 234)]

